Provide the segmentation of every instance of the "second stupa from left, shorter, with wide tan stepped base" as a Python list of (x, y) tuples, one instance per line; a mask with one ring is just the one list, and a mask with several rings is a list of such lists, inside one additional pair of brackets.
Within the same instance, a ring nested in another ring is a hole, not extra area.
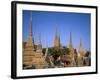
[(34, 54), (32, 63), (35, 65), (36, 69), (43, 69), (43, 68), (48, 67), (48, 64), (47, 64), (45, 57), (42, 53), (42, 43), (41, 43), (41, 34), (40, 33), (39, 33), (39, 40), (38, 40), (37, 49), (36, 49), (36, 52)]

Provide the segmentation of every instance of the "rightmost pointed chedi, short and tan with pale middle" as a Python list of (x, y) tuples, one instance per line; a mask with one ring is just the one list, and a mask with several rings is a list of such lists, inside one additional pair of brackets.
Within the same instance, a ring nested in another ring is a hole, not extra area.
[(78, 66), (83, 66), (84, 49), (82, 47), (82, 39), (80, 38), (79, 50), (78, 50)]

